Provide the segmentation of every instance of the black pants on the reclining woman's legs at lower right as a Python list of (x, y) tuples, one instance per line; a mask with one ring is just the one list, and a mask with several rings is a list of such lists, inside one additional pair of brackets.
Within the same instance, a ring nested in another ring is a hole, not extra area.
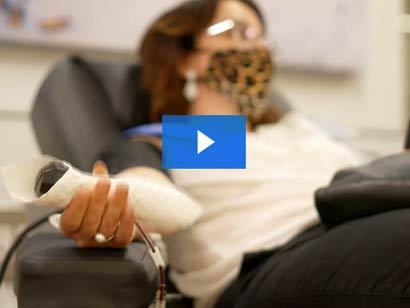
[(317, 226), (248, 254), (216, 307), (410, 307), (410, 210)]

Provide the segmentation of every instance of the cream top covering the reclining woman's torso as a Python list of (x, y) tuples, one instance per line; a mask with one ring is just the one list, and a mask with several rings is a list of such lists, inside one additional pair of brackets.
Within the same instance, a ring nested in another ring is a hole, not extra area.
[(356, 164), (344, 145), (295, 112), (247, 134), (246, 170), (171, 170), (203, 216), (168, 238), (171, 279), (210, 307), (237, 276), (245, 252), (279, 246), (318, 221), (314, 191)]

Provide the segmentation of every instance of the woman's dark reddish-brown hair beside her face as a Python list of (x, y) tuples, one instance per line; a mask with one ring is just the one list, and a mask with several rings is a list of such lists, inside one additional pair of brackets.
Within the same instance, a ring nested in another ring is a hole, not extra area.
[[(142, 85), (151, 99), (151, 120), (163, 114), (186, 114), (189, 102), (182, 94), (185, 79), (177, 71), (179, 60), (194, 51), (196, 37), (209, 26), (224, 0), (190, 0), (166, 12), (148, 29), (140, 48)], [(252, 0), (236, 0), (259, 16)]]

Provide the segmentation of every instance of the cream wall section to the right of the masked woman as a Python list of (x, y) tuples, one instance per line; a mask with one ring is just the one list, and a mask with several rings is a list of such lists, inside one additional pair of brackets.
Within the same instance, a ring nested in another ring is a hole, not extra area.
[(401, 1), (366, 0), (366, 58), (355, 76), (283, 72), (276, 84), (300, 109), (366, 129), (401, 129), (407, 120)]

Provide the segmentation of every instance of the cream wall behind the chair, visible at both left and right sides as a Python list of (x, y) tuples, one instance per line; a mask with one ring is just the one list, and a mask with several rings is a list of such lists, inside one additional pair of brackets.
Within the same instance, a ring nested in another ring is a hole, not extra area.
[[(277, 87), (302, 111), (358, 128), (399, 130), (407, 119), (400, 0), (366, 0), (367, 51), (356, 76), (279, 72)], [(50, 67), (69, 51), (0, 45), (0, 164), (38, 152), (27, 113)], [(91, 54), (121, 58), (120, 55)], [(5, 198), (0, 185), (0, 199)]]

